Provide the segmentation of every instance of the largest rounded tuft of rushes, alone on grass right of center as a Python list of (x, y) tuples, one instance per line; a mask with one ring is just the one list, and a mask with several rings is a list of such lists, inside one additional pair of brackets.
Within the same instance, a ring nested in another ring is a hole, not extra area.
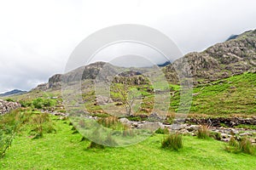
[(183, 147), (182, 135), (179, 133), (169, 134), (161, 142), (161, 147), (171, 150), (181, 149)]

